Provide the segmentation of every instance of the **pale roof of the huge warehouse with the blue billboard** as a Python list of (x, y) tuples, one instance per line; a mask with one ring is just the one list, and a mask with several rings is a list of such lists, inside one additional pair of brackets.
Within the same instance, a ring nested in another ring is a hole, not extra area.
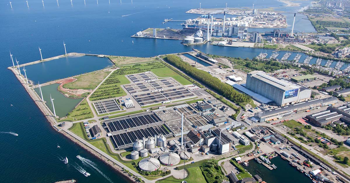
[(288, 90), (300, 88), (299, 85), (288, 83), (284, 80), (280, 80), (280, 79), (276, 79), (274, 77), (268, 76), (263, 71), (252, 71), (252, 72), (249, 72), (248, 75), (250, 75), (254, 79), (260, 80), (261, 82), (264, 82), (282, 91), (288, 91)]

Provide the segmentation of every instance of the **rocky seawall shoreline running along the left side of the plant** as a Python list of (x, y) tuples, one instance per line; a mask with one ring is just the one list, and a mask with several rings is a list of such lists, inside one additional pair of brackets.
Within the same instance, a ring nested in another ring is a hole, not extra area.
[[(17, 77), (17, 79), (19, 80), (19, 82), (22, 84), (22, 86), (25, 88), (25, 90), (27, 91), (27, 93), (29, 94), (29, 96), (33, 99), (34, 103), (36, 104), (36, 106), (39, 107), (40, 111), (43, 113), (43, 115), (45, 116), (45, 118), (48, 120), (48, 122), (51, 124), (52, 128), (54, 128), (55, 130), (57, 130), (57, 128), (55, 127), (56, 125), (56, 120), (53, 119), (53, 117), (48, 113), (45, 114), (45, 112), (48, 112), (47, 108), (45, 108), (43, 106), (43, 103), (40, 101), (40, 99), (35, 96), (34, 92), (29, 88), (26, 87), (26, 83), (25, 81), (19, 77), (19, 75), (16, 73), (15, 69), (12, 67), (8, 67), (8, 69), (10, 69), (14, 75)], [(96, 152), (95, 150), (91, 149), (89, 146), (85, 145), (84, 143), (80, 142), (79, 140), (75, 139), (74, 137), (72, 137), (70, 134), (64, 132), (63, 130), (59, 130), (59, 133), (61, 133), (62, 135), (64, 135), (66, 138), (70, 139), (71, 141), (73, 141), (75, 144), (77, 144), (78, 146), (82, 147), (83, 149), (85, 149), (87, 152), (91, 153), (92, 155), (96, 156), (98, 159), (100, 159), (101, 161), (103, 161), (104, 163), (106, 163), (107, 165), (109, 165), (111, 168), (113, 168), (114, 170), (116, 170), (118, 173), (120, 173), (121, 175), (123, 175), (124, 177), (126, 177), (128, 180), (130, 180), (131, 182), (139, 182), (138, 178), (131, 174), (130, 172), (126, 172), (123, 170), (123, 168), (121, 168), (120, 166), (118, 166), (116, 163), (113, 163), (112, 161), (110, 161), (109, 159), (107, 159), (105, 156), (99, 154), (98, 152)], [(71, 181), (71, 180), (69, 180)], [(62, 181), (61, 181), (62, 182)], [(61, 183), (59, 182), (59, 183)], [(65, 181), (63, 181), (62, 183), (66, 183)], [(68, 182), (67, 182), (68, 183)]]

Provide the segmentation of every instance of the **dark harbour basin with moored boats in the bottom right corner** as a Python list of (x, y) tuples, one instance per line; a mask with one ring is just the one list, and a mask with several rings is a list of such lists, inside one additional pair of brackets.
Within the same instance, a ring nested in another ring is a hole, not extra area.
[(271, 164), (275, 164), (277, 169), (269, 170), (264, 165), (257, 163), (255, 160), (249, 161), (249, 166), (245, 167), (253, 176), (259, 175), (263, 181), (268, 183), (311, 183), (311, 179), (304, 173), (289, 165), (288, 161), (283, 160), (280, 156), (271, 159)]

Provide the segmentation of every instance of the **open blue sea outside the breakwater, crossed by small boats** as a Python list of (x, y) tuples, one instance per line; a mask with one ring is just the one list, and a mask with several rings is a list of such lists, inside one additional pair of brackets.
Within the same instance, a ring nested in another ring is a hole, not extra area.
[[(10, 50), (20, 64), (40, 59), (38, 47), (42, 49), (44, 58), (64, 54), (63, 41), (66, 43), (67, 52), (87, 54), (150, 57), (191, 51), (191, 47), (180, 44), (181, 41), (178, 40), (153, 40), (130, 36), (148, 27), (180, 28), (181, 26), (177, 25), (178, 22), (165, 24), (161, 22), (165, 18), (193, 19), (196, 15), (184, 12), (191, 8), (198, 8), (199, 2), (202, 2), (203, 8), (214, 8), (224, 7), (226, 1), (218, 0), (212, 3), (210, 0), (133, 0), (131, 4), (130, 1), (123, 0), (123, 3), (120, 4), (119, 1), (111, 0), (109, 5), (107, 0), (100, 0), (97, 5), (95, 0), (86, 0), (86, 6), (84, 6), (83, 0), (73, 0), (73, 6), (69, 1), (59, 1), (59, 7), (57, 7), (57, 2), (52, 0), (44, 1), (45, 7), (43, 8), (41, 1), (29, 0), (29, 9), (25, 1), (13, 1), (13, 9), (10, 9), (8, 0), (0, 0), (0, 81), (2, 86), (0, 90), (2, 98), (0, 131), (12, 131), (19, 134), (19, 136), (1, 135), (0, 147), (3, 149), (0, 156), (1, 182), (55, 182), (70, 178), (86, 183), (127, 182), (115, 171), (50, 127), (13, 73), (6, 69), (12, 65), (9, 57)], [(303, 1), (303, 3), (307, 2), (309, 1)], [(239, 5), (237, 2), (229, 3), (228, 7), (250, 7), (252, 3), (259, 8), (283, 5), (275, 0), (247, 0), (239, 2)], [(290, 8), (288, 12), (290, 11), (295, 12), (295, 8)], [(289, 24), (292, 23), (290, 20), (288, 17)], [(295, 25), (297, 31), (311, 29), (313, 28), (309, 25)], [(131, 43), (132, 41), (134, 44)], [(209, 45), (194, 48), (212, 54), (232, 54), (243, 58), (256, 56), (261, 51), (265, 52), (261, 49), (236, 49)], [(64, 62), (63, 60), (62, 63)], [(50, 65), (49, 62), (45, 64)], [(70, 67), (70, 64), (73, 67)], [(48, 78), (40, 78), (40, 82), (44, 82), (44, 79), (66, 77), (63, 74), (62, 76), (56, 75), (57, 71), (76, 70), (76, 72), (69, 71), (71, 75), (89, 71), (84, 71), (84, 64), (78, 64), (77, 67), (73, 62), (62, 65), (64, 66), (53, 64), (54, 68), (45, 75)], [(96, 67), (92, 70), (99, 69), (99, 66), (101, 65), (92, 66)], [(38, 75), (41, 73), (37, 73), (38, 70), (43, 70), (43, 68), (27, 68), (28, 76), (34, 82), (39, 80)], [(55, 99), (56, 102), (57, 99)], [(10, 106), (11, 104), (13, 106)], [(56, 148), (57, 143), (62, 147), (61, 149)], [(78, 154), (96, 163), (92, 165), (99, 171), (76, 159), (75, 156)], [(67, 156), (70, 163), (63, 164), (58, 156)], [(85, 177), (80, 174), (73, 167), (73, 165), (76, 166), (75, 162), (89, 171), (91, 176)]]

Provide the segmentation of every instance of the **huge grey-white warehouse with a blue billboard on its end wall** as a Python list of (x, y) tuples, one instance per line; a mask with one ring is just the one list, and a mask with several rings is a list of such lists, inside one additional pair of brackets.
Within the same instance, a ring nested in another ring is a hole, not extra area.
[(311, 89), (276, 79), (263, 71), (247, 73), (246, 88), (271, 99), (279, 106), (306, 101), (311, 96)]

